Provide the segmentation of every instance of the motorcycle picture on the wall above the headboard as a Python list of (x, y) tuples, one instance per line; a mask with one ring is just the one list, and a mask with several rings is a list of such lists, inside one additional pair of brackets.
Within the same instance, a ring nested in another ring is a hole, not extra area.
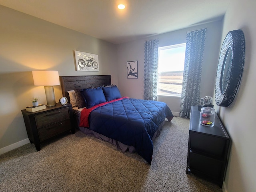
[(74, 52), (76, 71), (100, 71), (98, 55), (81, 51)]

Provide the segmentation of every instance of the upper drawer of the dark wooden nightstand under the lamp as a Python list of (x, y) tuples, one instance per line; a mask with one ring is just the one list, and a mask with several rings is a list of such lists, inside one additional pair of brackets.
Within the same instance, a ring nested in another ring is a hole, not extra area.
[(70, 118), (68, 107), (35, 116), (38, 129), (68, 118)]

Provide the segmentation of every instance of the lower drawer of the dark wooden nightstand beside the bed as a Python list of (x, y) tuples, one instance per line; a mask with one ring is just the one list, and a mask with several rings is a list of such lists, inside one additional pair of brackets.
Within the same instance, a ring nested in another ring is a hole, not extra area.
[(46, 126), (44, 128), (38, 129), (38, 134), (39, 134), (40, 141), (44, 141), (48, 138), (51, 138), (55, 135), (58, 135), (70, 129), (71, 129), (71, 123), (70, 123), (70, 120), (68, 119), (68, 120), (64, 120), (62, 122), (58, 122), (50, 126)]

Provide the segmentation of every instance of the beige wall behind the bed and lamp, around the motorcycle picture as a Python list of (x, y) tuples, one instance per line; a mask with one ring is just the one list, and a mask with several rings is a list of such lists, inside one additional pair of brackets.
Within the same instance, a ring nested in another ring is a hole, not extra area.
[[(28, 142), (21, 110), (32, 97), (46, 103), (32, 70), (58, 70), (60, 76), (111, 74), (118, 84), (116, 45), (0, 6), (0, 153)], [(98, 54), (100, 72), (75, 71), (74, 50)], [(56, 102), (61, 87), (54, 86)], [(9, 149), (9, 148), (8, 148)]]

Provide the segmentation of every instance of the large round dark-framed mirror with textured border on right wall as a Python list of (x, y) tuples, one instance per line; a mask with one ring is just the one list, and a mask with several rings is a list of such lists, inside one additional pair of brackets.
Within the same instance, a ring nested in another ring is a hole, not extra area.
[(228, 107), (238, 92), (244, 70), (245, 40), (242, 30), (226, 35), (218, 61), (215, 83), (215, 102)]

